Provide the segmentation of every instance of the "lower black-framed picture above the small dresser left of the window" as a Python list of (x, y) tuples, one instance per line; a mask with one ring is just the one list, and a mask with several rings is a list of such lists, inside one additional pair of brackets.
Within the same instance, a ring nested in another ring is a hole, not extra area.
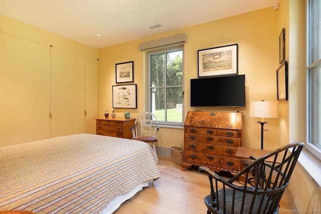
[(137, 108), (137, 85), (112, 86), (113, 108)]

